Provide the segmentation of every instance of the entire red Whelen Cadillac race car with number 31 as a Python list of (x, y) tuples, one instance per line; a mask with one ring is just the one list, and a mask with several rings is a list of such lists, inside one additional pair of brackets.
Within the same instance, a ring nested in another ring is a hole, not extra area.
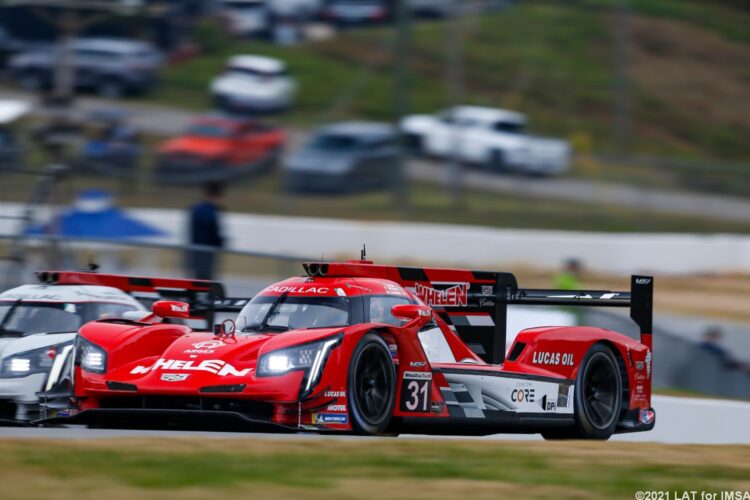
[[(630, 292), (529, 290), (512, 274), (305, 264), (214, 332), (161, 301), (141, 322), (89, 323), (75, 347), (71, 415), (114, 427), (542, 433), (647, 431), (653, 279)], [(629, 307), (640, 341), (594, 327), (520, 332), (509, 304)]]

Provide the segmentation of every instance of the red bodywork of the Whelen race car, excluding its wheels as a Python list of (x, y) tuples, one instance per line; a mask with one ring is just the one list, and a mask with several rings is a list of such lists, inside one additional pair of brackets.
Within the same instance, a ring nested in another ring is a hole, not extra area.
[[(290, 430), (350, 431), (350, 360), (362, 337), (375, 332), (388, 345), (396, 367), (392, 414), (404, 429), (450, 434), (539, 432), (547, 421), (569, 423), (580, 363), (597, 343), (614, 350), (623, 374), (617, 432), (653, 427), (650, 332), (642, 329), (637, 341), (594, 327), (532, 328), (518, 334), (509, 359), (504, 360), (504, 316), (498, 316), (498, 304), (505, 307), (505, 302), (516, 300), (501, 289), (502, 280), (511, 275), (376, 266), (366, 261), (312, 264), (306, 269), (308, 276), (269, 286), (259, 297), (346, 297), (352, 308), (359, 308), (355, 324), (217, 336), (158, 322), (89, 323), (80, 336), (106, 353), (106, 371), (91, 373), (75, 367), (78, 416), (224, 412)], [(603, 293), (601, 300), (617, 293)], [(426, 304), (434, 323), (428, 328), (426, 321), (403, 326), (370, 322), (365, 304), (372, 297)], [(487, 326), (493, 318), (503, 323), (502, 328)], [(472, 350), (471, 342), (462, 338), (489, 335), (490, 330), (482, 328), (502, 331), (502, 363), (493, 362), (497, 360), (486, 350), (478, 355), (475, 350), (481, 349)], [(326, 340), (333, 347), (309, 390), (305, 388), (309, 370), (258, 374), (263, 355)], [(641, 416), (644, 412), (647, 417)]]

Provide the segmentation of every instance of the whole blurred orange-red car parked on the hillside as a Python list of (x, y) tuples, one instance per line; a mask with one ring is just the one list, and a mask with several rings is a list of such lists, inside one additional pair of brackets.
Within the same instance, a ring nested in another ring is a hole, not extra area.
[(159, 148), (157, 181), (198, 184), (268, 171), (286, 134), (254, 120), (204, 116)]

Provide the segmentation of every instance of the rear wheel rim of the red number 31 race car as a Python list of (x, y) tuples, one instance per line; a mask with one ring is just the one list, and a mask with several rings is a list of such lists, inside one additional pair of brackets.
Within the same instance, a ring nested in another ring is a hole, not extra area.
[(618, 383), (612, 361), (603, 353), (596, 353), (586, 365), (583, 378), (584, 411), (589, 422), (606, 429), (617, 416)]

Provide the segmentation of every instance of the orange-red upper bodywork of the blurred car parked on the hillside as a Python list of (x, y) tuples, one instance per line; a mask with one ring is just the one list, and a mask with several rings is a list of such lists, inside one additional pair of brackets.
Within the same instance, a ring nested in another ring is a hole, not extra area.
[(244, 166), (281, 149), (286, 134), (253, 120), (203, 117), (159, 148), (162, 160), (190, 158), (200, 163)]

